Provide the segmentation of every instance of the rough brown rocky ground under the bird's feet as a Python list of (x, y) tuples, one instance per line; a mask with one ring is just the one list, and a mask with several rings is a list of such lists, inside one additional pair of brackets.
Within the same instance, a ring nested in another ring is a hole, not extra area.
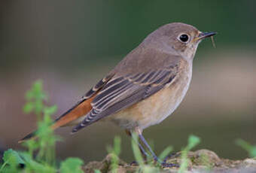
[[(189, 152), (187, 154), (188, 166), (185, 173), (201, 173), (201, 172), (216, 172), (216, 173), (256, 173), (256, 159), (244, 159), (244, 160), (230, 160), (221, 159), (211, 150), (197, 150)], [(166, 162), (169, 163), (181, 163), (181, 153), (175, 153), (169, 156)], [(83, 170), (86, 173), (94, 173), (95, 169), (99, 169), (102, 173), (111, 172), (111, 155), (105, 157), (100, 162), (89, 162), (84, 165)], [(129, 164), (119, 161), (117, 168), (118, 173), (132, 173), (138, 170), (139, 166), (136, 164)], [(154, 172), (154, 171), (151, 171)], [(161, 168), (160, 172), (163, 173), (175, 173), (178, 172), (178, 168)]]

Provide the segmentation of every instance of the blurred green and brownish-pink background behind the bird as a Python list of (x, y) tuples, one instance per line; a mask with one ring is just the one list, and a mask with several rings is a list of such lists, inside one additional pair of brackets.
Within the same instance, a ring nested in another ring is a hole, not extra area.
[[(22, 113), (24, 93), (44, 80), (50, 104), (62, 114), (97, 80), (166, 23), (183, 22), (216, 31), (217, 48), (203, 41), (194, 59), (190, 90), (177, 111), (145, 130), (160, 153), (178, 151), (190, 134), (198, 148), (242, 159), (236, 138), (256, 143), (256, 2), (247, 1), (68, 1), (0, 2), (0, 147), (22, 149), (17, 140), (35, 128), (35, 116)], [(56, 115), (57, 116), (57, 115)], [(105, 156), (114, 135), (122, 136), (121, 158), (130, 162), (130, 138), (111, 123), (96, 123), (76, 135), (58, 129), (65, 142), (57, 156), (88, 162)]]

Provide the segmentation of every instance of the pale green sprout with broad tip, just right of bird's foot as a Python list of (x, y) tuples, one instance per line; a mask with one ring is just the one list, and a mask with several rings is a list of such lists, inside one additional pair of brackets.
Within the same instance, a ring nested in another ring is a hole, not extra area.
[(187, 147), (184, 147), (184, 149), (181, 151), (181, 167), (178, 169), (178, 173), (182, 173), (187, 169), (187, 166), (188, 166), (187, 153), (192, 148), (196, 147), (197, 144), (199, 143), (200, 143), (200, 138), (198, 138), (195, 135), (189, 136)]

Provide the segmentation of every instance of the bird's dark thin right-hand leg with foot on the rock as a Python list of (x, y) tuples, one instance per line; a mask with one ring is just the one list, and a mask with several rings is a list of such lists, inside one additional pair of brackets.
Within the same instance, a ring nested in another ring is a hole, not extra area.
[(177, 165), (177, 164), (166, 163), (166, 160), (161, 161), (157, 157), (157, 155), (154, 153), (154, 151), (151, 149), (148, 142), (145, 140), (144, 136), (142, 135), (142, 130), (141, 129), (136, 129), (136, 133), (139, 135), (140, 141), (142, 141), (142, 143), (145, 145), (145, 147), (147, 147), (147, 149), (149, 150), (149, 152), (153, 156), (155, 162), (159, 162), (163, 167), (179, 167), (179, 165)]

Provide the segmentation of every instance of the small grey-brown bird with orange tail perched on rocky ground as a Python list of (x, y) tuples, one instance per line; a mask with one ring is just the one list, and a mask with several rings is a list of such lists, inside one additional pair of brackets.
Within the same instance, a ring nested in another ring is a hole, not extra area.
[[(187, 93), (198, 44), (215, 34), (200, 32), (184, 23), (161, 26), (75, 106), (57, 118), (52, 128), (76, 125), (72, 132), (78, 132), (98, 120), (111, 120), (128, 134), (136, 132), (144, 147), (159, 162), (142, 131), (175, 111)], [(32, 138), (33, 134), (21, 141)], [(142, 144), (139, 147), (148, 156)]]

